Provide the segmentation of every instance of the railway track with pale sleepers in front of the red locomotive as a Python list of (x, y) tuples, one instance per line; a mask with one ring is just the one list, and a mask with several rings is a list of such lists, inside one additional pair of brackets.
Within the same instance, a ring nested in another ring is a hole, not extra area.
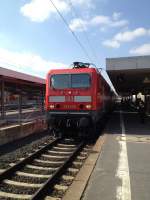
[(75, 170), (71, 165), (84, 146), (84, 142), (57, 138), (18, 163), (11, 163), (8, 169), (0, 171), (0, 199), (51, 199), (63, 173)]

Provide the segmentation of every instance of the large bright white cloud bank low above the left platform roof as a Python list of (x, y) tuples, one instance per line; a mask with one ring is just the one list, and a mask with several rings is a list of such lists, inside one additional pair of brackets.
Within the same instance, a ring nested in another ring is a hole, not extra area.
[(23, 73), (30, 72), (32, 75), (39, 74), (42, 76), (45, 76), (50, 69), (68, 67), (64, 63), (45, 60), (33, 53), (12, 52), (3, 48), (0, 48), (0, 66)]

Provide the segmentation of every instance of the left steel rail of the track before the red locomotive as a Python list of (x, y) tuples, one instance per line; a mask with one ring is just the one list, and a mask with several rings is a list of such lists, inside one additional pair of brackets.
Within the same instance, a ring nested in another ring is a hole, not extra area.
[(15, 164), (14, 166), (6, 169), (4, 172), (2, 172), (0, 174), (0, 182), (2, 182), (5, 179), (8, 179), (10, 176), (12, 176), (16, 171), (19, 171), (21, 168), (23, 168), (26, 164), (29, 164), (30, 162), (32, 162), (35, 158), (37, 158), (38, 156), (40, 156), (43, 152), (45, 152), (46, 150), (48, 150), (49, 148), (53, 147), (54, 145), (56, 145), (59, 141), (61, 140), (61, 138), (56, 138), (54, 141), (52, 141), (51, 143), (45, 145), (45, 147), (39, 149), (38, 151), (36, 151), (35, 153), (32, 153), (30, 156), (28, 156), (27, 158), (24, 158), (23, 160), (19, 161), (17, 164)]

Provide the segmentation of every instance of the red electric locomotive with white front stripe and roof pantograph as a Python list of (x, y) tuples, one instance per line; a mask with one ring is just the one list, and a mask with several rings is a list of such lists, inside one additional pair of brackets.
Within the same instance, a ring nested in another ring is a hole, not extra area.
[(89, 63), (74, 62), (72, 69), (50, 70), (46, 82), (48, 124), (89, 133), (111, 109), (112, 98), (110, 86)]

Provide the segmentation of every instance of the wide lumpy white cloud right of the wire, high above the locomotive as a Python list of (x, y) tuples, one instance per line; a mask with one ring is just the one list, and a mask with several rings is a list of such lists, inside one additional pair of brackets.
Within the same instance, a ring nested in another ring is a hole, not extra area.
[(100, 27), (100, 30), (105, 30), (109, 27), (123, 27), (128, 24), (125, 19), (119, 19), (120, 13), (113, 13), (112, 17), (105, 15), (97, 15), (91, 19), (75, 18), (70, 22), (70, 28), (73, 31), (84, 31), (90, 27)]

